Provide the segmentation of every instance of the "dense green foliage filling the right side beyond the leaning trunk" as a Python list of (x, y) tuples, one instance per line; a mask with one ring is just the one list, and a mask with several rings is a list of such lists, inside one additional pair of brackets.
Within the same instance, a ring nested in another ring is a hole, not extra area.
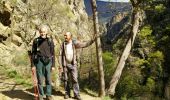
[[(169, 70), (170, 64), (169, 8), (164, 1), (143, 0), (143, 3), (147, 19), (116, 87), (116, 97), (121, 100), (144, 100), (142, 97), (162, 100), (164, 96), (164, 70)], [(117, 47), (122, 44), (116, 45), (113, 47), (120, 50)], [(168, 78), (169, 72), (166, 72)]]

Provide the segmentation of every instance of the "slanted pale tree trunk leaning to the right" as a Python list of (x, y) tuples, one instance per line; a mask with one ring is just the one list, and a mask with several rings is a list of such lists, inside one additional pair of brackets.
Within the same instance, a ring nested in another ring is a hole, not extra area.
[(136, 34), (138, 33), (139, 22), (140, 22), (140, 12), (136, 9), (133, 9), (132, 22), (131, 22), (131, 24), (132, 24), (131, 36), (129, 37), (127, 44), (125, 46), (125, 49), (119, 59), (116, 71), (115, 71), (114, 75), (112, 76), (112, 80), (110, 82), (110, 87), (107, 91), (107, 94), (110, 96), (114, 96), (114, 94), (115, 94), (115, 88), (116, 88), (117, 83), (118, 83), (120, 76), (122, 74), (122, 70), (124, 68), (125, 62), (130, 54), (130, 50), (133, 46)]

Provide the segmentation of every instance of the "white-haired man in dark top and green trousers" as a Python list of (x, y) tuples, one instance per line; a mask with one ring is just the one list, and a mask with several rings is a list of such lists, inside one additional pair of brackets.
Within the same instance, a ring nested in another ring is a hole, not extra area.
[(52, 100), (51, 71), (55, 69), (54, 42), (47, 37), (48, 26), (41, 25), (40, 36), (35, 38), (32, 46), (32, 71), (36, 72), (38, 80), (39, 100), (45, 98), (43, 79), (46, 84), (46, 100)]

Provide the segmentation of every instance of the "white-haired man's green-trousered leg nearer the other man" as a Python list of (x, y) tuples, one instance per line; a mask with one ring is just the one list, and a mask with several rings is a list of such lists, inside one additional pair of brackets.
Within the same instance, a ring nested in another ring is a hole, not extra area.
[(51, 62), (45, 66), (45, 84), (46, 84), (46, 95), (51, 96)]

